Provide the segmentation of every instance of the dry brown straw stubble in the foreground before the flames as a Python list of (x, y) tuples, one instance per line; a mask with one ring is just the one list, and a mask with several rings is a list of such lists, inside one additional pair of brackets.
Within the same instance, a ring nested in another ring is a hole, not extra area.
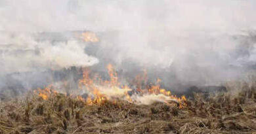
[(0, 133), (255, 133), (254, 87), (208, 98), (196, 93), (182, 109), (124, 101), (86, 105), (62, 94), (45, 101), (31, 93), (27, 99), (1, 102)]

